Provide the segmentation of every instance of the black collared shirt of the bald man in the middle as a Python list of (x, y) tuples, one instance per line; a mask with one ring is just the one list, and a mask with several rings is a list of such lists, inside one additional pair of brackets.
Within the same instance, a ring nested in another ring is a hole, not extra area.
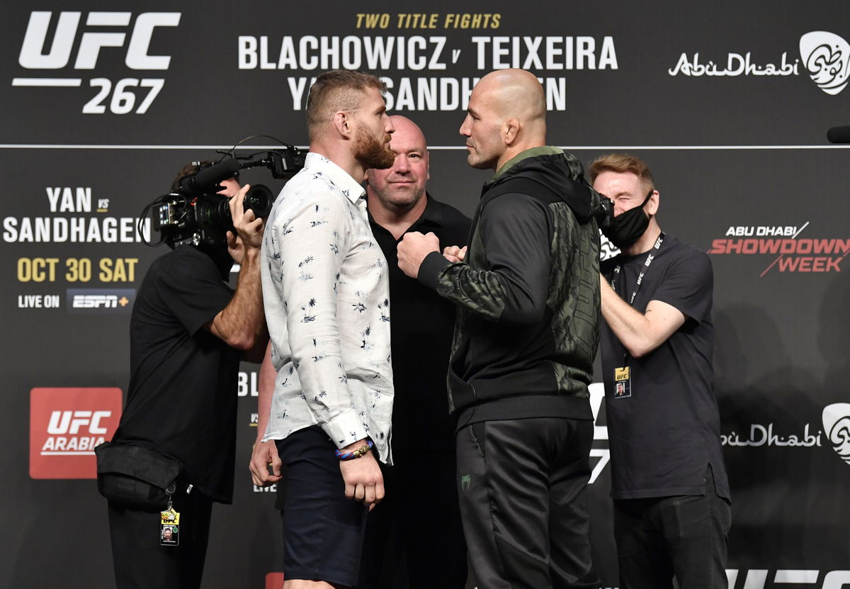
[[(399, 269), (400, 240), (369, 215), (372, 232), (389, 266), (389, 300), (393, 351), (393, 454), (400, 463), (416, 452), (455, 447), (455, 419), (449, 415), (445, 376), (455, 306)], [(470, 220), (457, 209), (428, 195), (428, 206), (407, 232), (433, 232), (440, 248), (464, 246)]]

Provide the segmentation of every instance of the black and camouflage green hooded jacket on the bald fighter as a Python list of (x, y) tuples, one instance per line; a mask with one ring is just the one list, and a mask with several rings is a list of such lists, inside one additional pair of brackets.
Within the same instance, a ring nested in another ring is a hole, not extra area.
[[(448, 375), (461, 426), (592, 419), (599, 340), (598, 194), (553, 147), (523, 152), (484, 185), (466, 259), (433, 253), (419, 280), (458, 307)], [(444, 244), (449, 245), (449, 244)]]

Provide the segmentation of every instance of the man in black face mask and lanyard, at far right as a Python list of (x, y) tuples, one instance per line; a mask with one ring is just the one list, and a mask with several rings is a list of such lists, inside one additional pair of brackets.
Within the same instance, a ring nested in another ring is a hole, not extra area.
[(622, 589), (725, 588), (729, 488), (712, 391), (708, 255), (661, 231), (646, 163), (590, 166), (614, 201), (601, 265), (602, 365)]

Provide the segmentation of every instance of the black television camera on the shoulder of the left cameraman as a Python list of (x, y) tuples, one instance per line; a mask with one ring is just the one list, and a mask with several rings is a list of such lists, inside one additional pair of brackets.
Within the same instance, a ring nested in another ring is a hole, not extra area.
[[(227, 232), (234, 231), (229, 198), (218, 194), (220, 182), (233, 178), (239, 170), (264, 166), (276, 179), (292, 178), (304, 166), (303, 153), (294, 146), (254, 154), (229, 157), (202, 166), (194, 174), (184, 176), (173, 192), (156, 198), (140, 215), (139, 222), (153, 214), (153, 226), (161, 233), (161, 241), (171, 248), (178, 245), (215, 246), (227, 243)], [(275, 195), (262, 184), (251, 186), (242, 203), (258, 217), (269, 215)]]

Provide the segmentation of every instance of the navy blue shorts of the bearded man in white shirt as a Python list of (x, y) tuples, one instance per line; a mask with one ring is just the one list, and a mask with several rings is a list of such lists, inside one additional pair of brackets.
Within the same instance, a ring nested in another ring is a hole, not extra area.
[(284, 577), (356, 586), (369, 510), (345, 496), (336, 444), (319, 426), (276, 444), (286, 467), (280, 512)]

